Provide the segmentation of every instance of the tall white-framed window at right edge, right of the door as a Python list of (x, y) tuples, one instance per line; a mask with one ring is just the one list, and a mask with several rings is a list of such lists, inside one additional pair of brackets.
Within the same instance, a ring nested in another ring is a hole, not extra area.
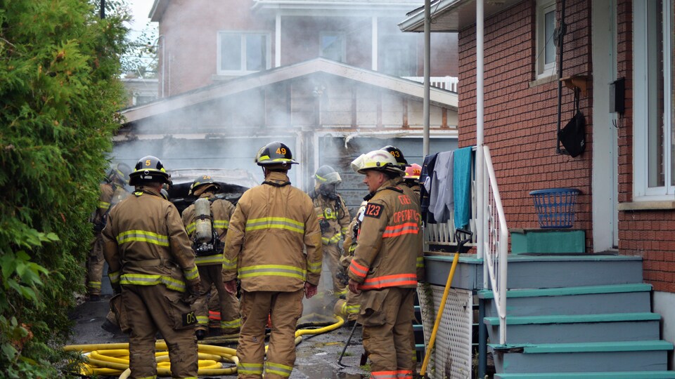
[(634, 199), (675, 194), (675, 0), (634, 2)]

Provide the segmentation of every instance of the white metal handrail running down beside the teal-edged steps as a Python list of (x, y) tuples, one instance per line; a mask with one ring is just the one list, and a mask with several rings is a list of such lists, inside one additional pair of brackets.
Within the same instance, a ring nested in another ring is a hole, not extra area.
[[(483, 145), (484, 173), (483, 178), (489, 178), (489, 185), (484, 186), (483, 204), (485, 206), (482, 235), (485, 256), (483, 257), (484, 272), (489, 277), (489, 288), (494, 294), (494, 302), (499, 315), (499, 344), (506, 345), (506, 269), (508, 258), (508, 228), (504, 217), (504, 208), (501, 204), (499, 186), (497, 185), (494, 166), (490, 150)], [(487, 281), (487, 278), (485, 278)]]

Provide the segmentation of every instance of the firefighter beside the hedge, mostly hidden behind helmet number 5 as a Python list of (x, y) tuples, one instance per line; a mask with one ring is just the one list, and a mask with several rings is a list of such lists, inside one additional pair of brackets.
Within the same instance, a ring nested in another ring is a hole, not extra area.
[(108, 220), (108, 212), (119, 203), (129, 192), (124, 188), (129, 180), (131, 168), (123, 163), (113, 164), (108, 176), (99, 185), (101, 195), (98, 197), (98, 208), (91, 215), (94, 224), (94, 242), (86, 260), (87, 290), (89, 301), (101, 300), (101, 277), (103, 277), (103, 237), (101, 231)]

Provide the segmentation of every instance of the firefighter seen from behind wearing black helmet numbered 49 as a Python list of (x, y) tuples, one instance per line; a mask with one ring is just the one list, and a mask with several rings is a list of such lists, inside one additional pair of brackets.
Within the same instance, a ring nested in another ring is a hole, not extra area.
[[(262, 185), (248, 189), (230, 219), (223, 278), (241, 286), (238, 378), (288, 378), (295, 364), (295, 326), (302, 295), (316, 294), (321, 276), (321, 229), (311, 199), (290, 185), (297, 164), (288, 146), (270, 142), (257, 152)], [(271, 320), (267, 359), (265, 325)]]

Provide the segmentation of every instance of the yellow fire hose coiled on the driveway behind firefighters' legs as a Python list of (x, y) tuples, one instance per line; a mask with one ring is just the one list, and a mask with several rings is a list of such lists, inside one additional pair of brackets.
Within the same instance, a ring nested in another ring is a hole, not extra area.
[[(311, 315), (319, 316), (319, 315)], [(316, 335), (340, 328), (345, 320), (342, 317), (323, 317), (324, 321), (333, 324), (316, 329), (300, 329), (295, 331), (295, 345), (302, 342), (302, 335)], [(309, 324), (326, 324), (314, 322)], [(66, 351), (82, 352), (85, 364), (79, 368), (82, 375), (120, 375), (120, 379), (127, 379), (131, 375), (129, 370), (129, 343), (103, 343), (95, 345), (68, 345)], [(157, 375), (171, 376), (169, 366), (169, 352), (164, 340), (155, 343), (155, 359), (157, 361)], [(267, 346), (265, 346), (267, 351)], [(198, 344), (198, 375), (233, 375), (237, 372), (239, 359), (237, 351), (231, 347)]]

